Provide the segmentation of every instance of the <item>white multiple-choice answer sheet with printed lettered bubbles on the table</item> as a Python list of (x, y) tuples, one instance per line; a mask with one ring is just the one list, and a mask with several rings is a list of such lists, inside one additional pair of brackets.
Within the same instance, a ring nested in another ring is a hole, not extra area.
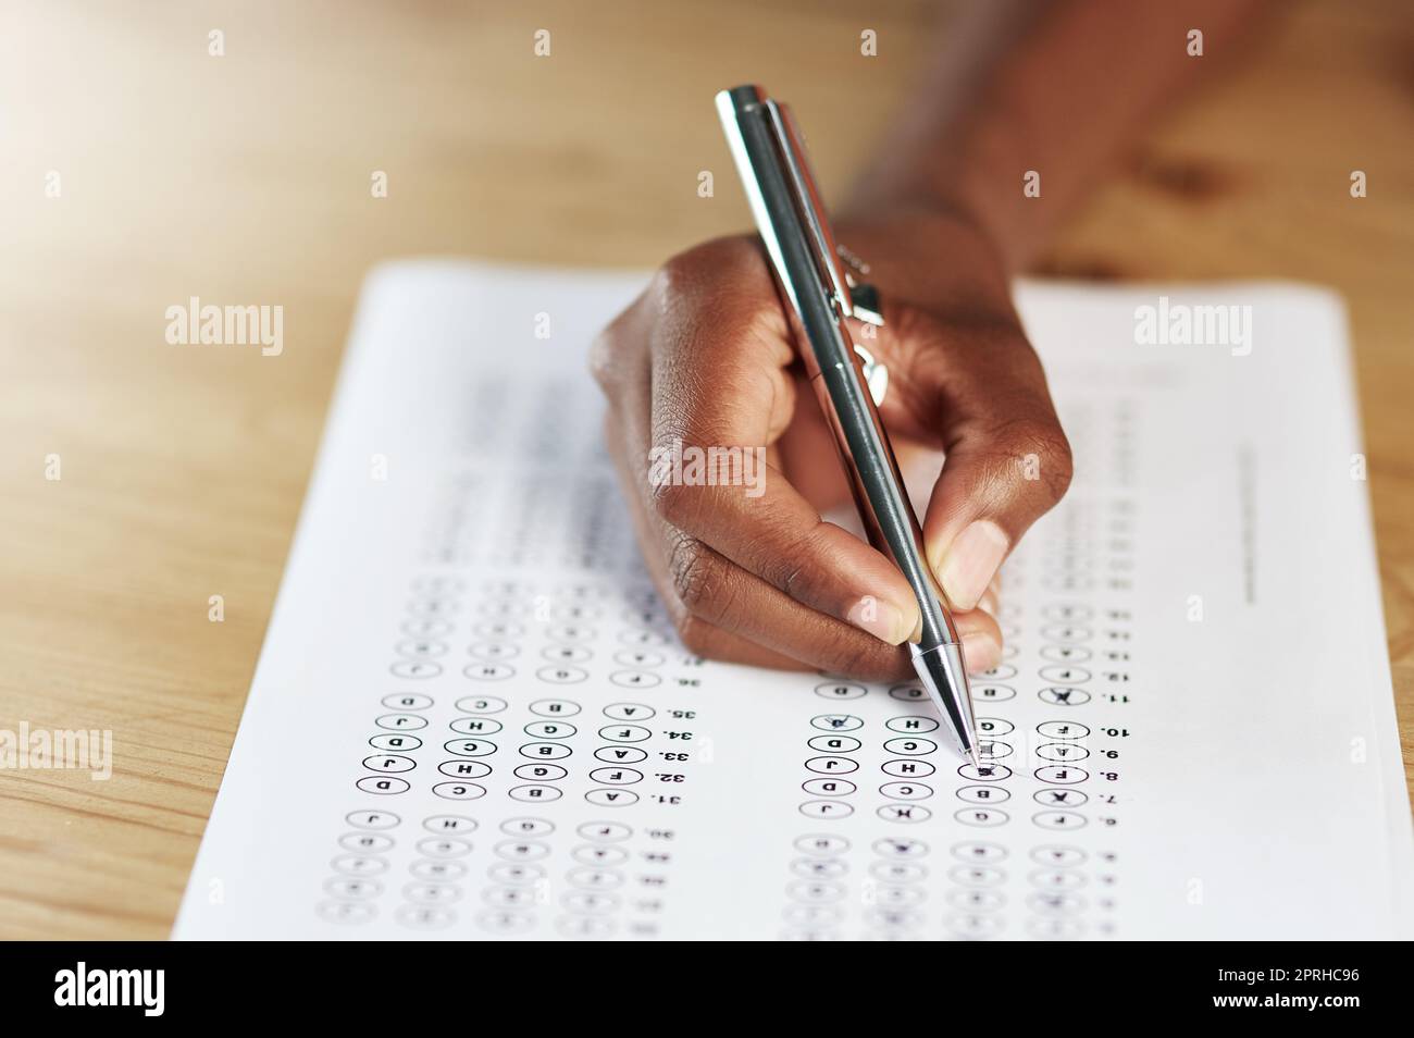
[(1414, 936), (1333, 297), (1019, 288), (1076, 479), (978, 768), (913, 684), (677, 643), (584, 362), (642, 283), (369, 279), (174, 936)]

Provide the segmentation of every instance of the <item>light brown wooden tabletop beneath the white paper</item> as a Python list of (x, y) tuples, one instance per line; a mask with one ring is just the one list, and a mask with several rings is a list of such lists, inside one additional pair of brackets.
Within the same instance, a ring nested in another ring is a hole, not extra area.
[[(734, 184), (710, 102), (738, 81), (790, 98), (809, 126), (833, 113), (864, 127), (812, 140), (822, 180), (843, 189), (933, 17), (921, 0), (878, 7), (7, 8), (0, 727), (110, 728), (116, 769), (109, 782), (0, 775), (0, 938), (167, 935), (363, 272), (411, 253), (649, 266), (747, 226), (735, 189), (696, 191), (700, 170)], [(539, 28), (549, 58), (533, 55)], [(877, 58), (858, 57), (863, 28), (878, 33)], [(223, 57), (208, 54), (211, 30)], [(1155, 127), (1046, 264), (1345, 294), (1406, 748), (1411, 49), (1401, 0), (1297, 6), (1230, 79)], [(1349, 197), (1352, 168), (1367, 171), (1369, 198)], [(383, 199), (369, 189), (379, 170)], [(191, 296), (283, 305), (284, 354), (167, 345), (164, 311)]]

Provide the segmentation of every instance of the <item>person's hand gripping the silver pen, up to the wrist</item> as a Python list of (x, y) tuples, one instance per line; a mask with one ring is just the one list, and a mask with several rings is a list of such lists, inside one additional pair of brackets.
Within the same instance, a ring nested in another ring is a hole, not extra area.
[[(841, 223), (871, 263), (885, 327), (854, 338), (889, 371), (880, 407), (899, 462), (946, 464), (923, 519), (929, 563), (971, 670), (1000, 659), (997, 567), (1070, 481), (1045, 375), (986, 235), (954, 212)], [(648, 570), (690, 651), (874, 680), (911, 673), (904, 576), (822, 511), (848, 499), (833, 437), (755, 238), (669, 260), (595, 341), (605, 434)], [(764, 479), (663, 481), (683, 448), (761, 448)], [(656, 450), (655, 450), (656, 448)]]

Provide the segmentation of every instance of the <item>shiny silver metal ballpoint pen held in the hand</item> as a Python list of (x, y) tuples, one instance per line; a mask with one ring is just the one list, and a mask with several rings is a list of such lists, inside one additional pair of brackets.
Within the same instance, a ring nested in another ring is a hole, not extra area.
[(870, 543), (894, 560), (918, 598), (922, 636), (908, 646), (918, 680), (957, 748), (978, 764), (962, 643), (878, 416), (888, 373), (854, 344), (846, 322), (881, 325), (878, 294), (841, 263), (846, 257), (861, 277), (867, 273), (834, 243), (790, 109), (748, 85), (718, 93), (717, 113)]

